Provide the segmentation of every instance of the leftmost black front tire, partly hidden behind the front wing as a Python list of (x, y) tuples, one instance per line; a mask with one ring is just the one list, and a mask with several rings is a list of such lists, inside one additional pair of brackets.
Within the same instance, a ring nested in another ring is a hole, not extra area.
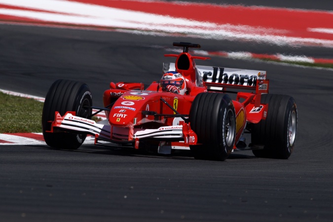
[(45, 98), (41, 118), (42, 132), (48, 146), (59, 149), (77, 149), (82, 145), (86, 135), (46, 131), (51, 130), (55, 111), (62, 116), (67, 111), (75, 111), (76, 116), (87, 118), (91, 115), (92, 110), (84, 108), (85, 106), (92, 106), (90, 89), (86, 84), (66, 79), (57, 80), (52, 84)]

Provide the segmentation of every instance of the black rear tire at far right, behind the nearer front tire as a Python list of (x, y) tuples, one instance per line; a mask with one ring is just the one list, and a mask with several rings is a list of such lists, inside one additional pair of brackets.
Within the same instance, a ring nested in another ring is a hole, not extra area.
[(257, 157), (288, 159), (293, 152), (297, 131), (297, 108), (293, 97), (262, 94), (261, 103), (268, 104), (267, 117), (254, 124), (251, 146)]

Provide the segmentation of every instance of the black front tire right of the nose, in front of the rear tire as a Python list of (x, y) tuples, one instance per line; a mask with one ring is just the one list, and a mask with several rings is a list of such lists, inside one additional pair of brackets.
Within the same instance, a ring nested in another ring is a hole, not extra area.
[(195, 159), (225, 160), (235, 143), (236, 118), (230, 97), (222, 93), (200, 93), (189, 112), (191, 129), (198, 144), (190, 146)]

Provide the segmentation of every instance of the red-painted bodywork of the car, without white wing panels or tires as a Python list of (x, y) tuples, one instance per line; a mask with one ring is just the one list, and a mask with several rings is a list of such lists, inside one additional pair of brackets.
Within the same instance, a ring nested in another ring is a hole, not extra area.
[[(253, 85), (240, 85), (222, 82), (209, 82), (202, 80), (202, 74), (198, 74), (195, 59), (206, 60), (207, 57), (191, 56), (188, 52), (179, 55), (169, 54), (167, 57), (177, 57), (175, 70), (183, 74), (186, 79), (188, 92), (185, 95), (163, 92), (157, 82), (144, 90), (142, 83), (118, 82), (110, 83), (110, 89), (103, 95), (104, 106), (114, 103), (111, 111), (106, 111), (109, 124), (111, 125), (110, 140), (114, 142), (135, 142), (138, 147), (139, 139), (134, 138), (135, 132), (143, 129), (158, 129), (164, 126), (183, 126), (184, 145), (195, 145), (196, 135), (190, 130), (189, 123), (185, 123), (180, 117), (168, 107), (161, 98), (180, 114), (189, 114), (191, 104), (198, 93), (225, 93), (229, 90), (251, 90), (252, 92), (238, 92), (233, 100), (236, 113), (236, 137), (234, 148), (244, 133), (247, 122), (258, 123), (265, 119), (268, 105), (260, 104), (261, 93), (268, 93), (268, 80), (266, 74), (258, 74)], [(222, 68), (220, 75), (222, 76)], [(218, 70), (218, 68), (213, 68)], [(259, 77), (262, 79), (259, 79)], [(214, 77), (214, 74), (213, 74)], [(145, 111), (153, 111), (156, 114), (147, 114)], [(144, 113), (143, 113), (144, 112)], [(182, 140), (180, 140), (182, 141)]]

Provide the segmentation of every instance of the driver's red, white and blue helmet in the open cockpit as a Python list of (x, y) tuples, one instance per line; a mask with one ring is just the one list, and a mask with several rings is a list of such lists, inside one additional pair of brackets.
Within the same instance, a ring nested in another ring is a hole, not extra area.
[(170, 91), (171, 87), (177, 87), (178, 94), (180, 95), (184, 95), (186, 92), (186, 83), (184, 76), (180, 73), (173, 71), (163, 74), (159, 82), (159, 86), (162, 88), (163, 91)]

